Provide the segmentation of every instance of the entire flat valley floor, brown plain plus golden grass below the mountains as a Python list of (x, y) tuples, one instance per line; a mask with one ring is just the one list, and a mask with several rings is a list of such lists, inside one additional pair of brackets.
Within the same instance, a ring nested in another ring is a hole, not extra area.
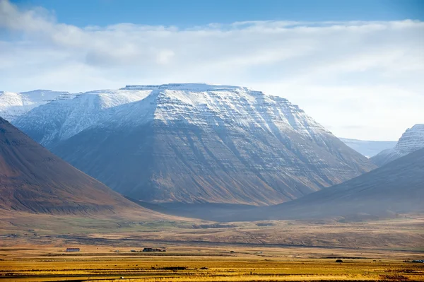
[(33, 229), (34, 221), (1, 221), (1, 281), (424, 281), (424, 264), (404, 262), (424, 259), (418, 215), (219, 224), (46, 217)]

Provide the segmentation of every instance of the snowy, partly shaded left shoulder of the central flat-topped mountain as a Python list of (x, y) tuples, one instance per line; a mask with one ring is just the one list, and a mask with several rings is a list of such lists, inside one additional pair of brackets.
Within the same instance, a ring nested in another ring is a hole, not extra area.
[(113, 116), (115, 107), (146, 98), (149, 90), (95, 90), (71, 100), (54, 100), (13, 120), (13, 124), (49, 148)]

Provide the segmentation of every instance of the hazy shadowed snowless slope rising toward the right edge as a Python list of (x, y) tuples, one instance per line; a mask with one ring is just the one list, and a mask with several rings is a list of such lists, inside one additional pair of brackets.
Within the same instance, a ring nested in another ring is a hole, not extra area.
[(424, 149), (420, 149), (342, 184), (295, 201), (227, 216), (225, 221), (423, 212), (423, 199)]

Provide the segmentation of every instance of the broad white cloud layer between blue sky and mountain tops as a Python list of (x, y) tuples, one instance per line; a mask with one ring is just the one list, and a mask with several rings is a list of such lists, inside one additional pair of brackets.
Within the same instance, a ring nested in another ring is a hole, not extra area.
[(297, 103), (338, 136), (397, 139), (424, 123), (423, 37), (413, 20), (78, 28), (0, 0), (0, 87), (251, 86)]

